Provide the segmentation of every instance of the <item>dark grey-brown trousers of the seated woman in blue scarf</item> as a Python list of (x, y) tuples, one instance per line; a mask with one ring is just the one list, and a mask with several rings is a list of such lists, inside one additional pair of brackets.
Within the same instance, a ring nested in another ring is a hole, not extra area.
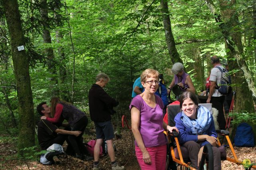
[[(188, 141), (184, 143), (182, 146), (188, 149), (188, 156), (190, 158), (191, 164), (193, 167), (198, 169), (197, 161), (198, 161), (198, 152), (201, 148), (200, 144), (198, 144), (195, 141)], [(214, 170), (221, 170), (220, 150), (217, 147), (212, 146), (212, 151), (213, 151)]]

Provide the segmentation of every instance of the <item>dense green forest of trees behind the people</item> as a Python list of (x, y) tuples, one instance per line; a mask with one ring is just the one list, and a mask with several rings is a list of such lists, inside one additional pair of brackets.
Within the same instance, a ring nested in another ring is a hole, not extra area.
[(142, 71), (158, 70), (167, 87), (181, 62), (199, 94), (213, 55), (232, 75), (234, 127), (248, 122), (255, 131), (255, 0), (0, 0), (0, 139), (16, 140), (19, 154), (38, 146), (36, 106), (54, 96), (89, 117), (100, 72), (120, 102), (112, 117), (120, 129)]

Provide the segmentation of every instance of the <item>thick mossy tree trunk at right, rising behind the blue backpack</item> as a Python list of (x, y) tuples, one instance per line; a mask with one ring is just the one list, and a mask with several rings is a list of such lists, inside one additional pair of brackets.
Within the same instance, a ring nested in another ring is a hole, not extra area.
[[(230, 50), (230, 52), (228, 52), (230, 53), (230, 55), (228, 55), (229, 56), (228, 63), (231, 63), (231, 68), (234, 68), (234, 69), (240, 68), (244, 72), (242, 73), (242, 71), (240, 70), (237, 73), (235, 73), (235, 76), (234, 76), (234, 79), (235, 79), (234, 82), (238, 85), (242, 85), (235, 88), (236, 89), (235, 110), (236, 111), (246, 110), (252, 113), (254, 112), (254, 106), (252, 102), (253, 99), (251, 96), (252, 96), (252, 93), (256, 94), (256, 88), (254, 87), (254, 80), (252, 78), (250, 70), (243, 58), (244, 49), (242, 45), (241, 34), (238, 30), (231, 29), (231, 28), (236, 28), (236, 26), (238, 26), (238, 17), (235, 13), (236, 10), (233, 8), (233, 5), (235, 3), (236, 3), (236, 0), (231, 0), (229, 2), (227, 0), (220, 0), (220, 10), (221, 10), (222, 18), (224, 19), (225, 28), (226, 28), (226, 31), (228, 32), (228, 35), (231, 35), (230, 37), (234, 42), (234, 44), (231, 44), (231, 43), (228, 44), (226, 41), (226, 47)], [(228, 25), (228, 23), (230, 23), (230, 25)], [(235, 46), (237, 47), (238, 50), (235, 49)], [(231, 57), (235, 57), (237, 62), (230, 61)], [(250, 90), (252, 91), (252, 93), (250, 92)]]

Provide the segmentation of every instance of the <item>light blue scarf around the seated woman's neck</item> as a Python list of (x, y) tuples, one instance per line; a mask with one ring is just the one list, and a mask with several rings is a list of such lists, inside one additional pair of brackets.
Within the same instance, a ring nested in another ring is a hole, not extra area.
[(186, 127), (190, 128), (192, 134), (206, 134), (212, 122), (212, 115), (206, 107), (198, 106), (197, 119), (190, 119), (182, 111), (181, 120)]

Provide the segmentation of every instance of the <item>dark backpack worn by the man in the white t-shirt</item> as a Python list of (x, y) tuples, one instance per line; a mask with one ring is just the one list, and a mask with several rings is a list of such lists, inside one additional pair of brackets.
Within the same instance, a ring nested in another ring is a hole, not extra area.
[(222, 95), (229, 95), (232, 91), (231, 85), (231, 78), (230, 75), (228, 75), (228, 70), (225, 68), (221, 69), (220, 67), (216, 67), (221, 71), (221, 80), (220, 84), (216, 84), (216, 88)]

